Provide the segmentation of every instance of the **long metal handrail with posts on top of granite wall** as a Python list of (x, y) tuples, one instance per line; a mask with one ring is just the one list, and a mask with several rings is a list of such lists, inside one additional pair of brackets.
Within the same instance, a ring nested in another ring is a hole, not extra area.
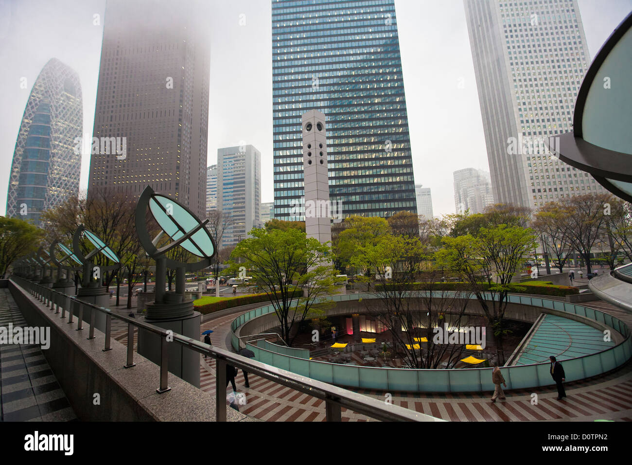
[[(76, 296), (63, 294), (62, 292), (53, 290), (52, 288), (44, 287), (38, 283), (25, 280), (20, 276), (11, 276), (11, 280), (21, 282), (21, 287), (35, 295), (47, 307), (51, 307), (51, 310), (54, 310), (54, 307), (56, 307), (57, 311), (55, 313), (59, 313), (60, 302), (58, 299), (63, 299), (63, 311), (61, 313), (61, 318), (65, 318), (66, 309), (68, 309), (70, 313), (70, 321), (68, 321), (68, 323), (73, 322), (73, 311), (70, 311), (70, 309), (75, 308), (75, 306), (78, 305), (79, 321), (77, 322), (77, 330), (83, 329), (82, 319), (84, 307), (106, 314), (106, 333), (103, 350), (111, 349), (111, 318), (126, 321), (128, 323), (128, 350), (126, 364), (124, 365), (125, 368), (135, 366), (133, 363), (133, 330), (135, 327), (160, 335), (160, 387), (157, 388), (157, 392), (159, 392), (159, 394), (162, 394), (162, 392), (166, 392), (170, 389), (167, 386), (167, 344), (171, 341), (167, 341), (167, 336), (169, 336), (169, 338), (173, 337), (173, 342), (176, 342), (176, 344), (188, 347), (190, 350), (194, 350), (195, 352), (199, 352), (200, 354), (216, 359), (216, 421), (226, 421), (226, 364), (243, 369), (248, 373), (261, 376), (267, 380), (274, 381), (275, 383), (285, 387), (293, 388), (303, 394), (312, 395), (317, 399), (324, 400), (327, 421), (341, 421), (342, 407), (380, 421), (444, 421), (410, 409), (404, 409), (404, 407), (389, 404), (382, 400), (373, 399), (372, 397), (368, 397), (366, 395), (357, 394), (322, 381), (313, 380), (307, 376), (296, 375), (296, 373), (292, 373), (291, 371), (286, 371), (281, 368), (276, 368), (265, 363), (254, 361), (248, 357), (243, 357), (238, 354), (234, 354), (233, 352), (229, 352), (229, 350), (226, 349), (209, 346), (203, 342), (178, 333), (167, 332), (157, 326), (138, 321), (125, 315), (114, 313), (105, 307), (99, 307), (94, 304), (90, 304), (89, 302), (80, 301), (76, 298)], [(91, 311), (90, 313), (90, 335), (88, 339), (95, 338), (95, 312)]]

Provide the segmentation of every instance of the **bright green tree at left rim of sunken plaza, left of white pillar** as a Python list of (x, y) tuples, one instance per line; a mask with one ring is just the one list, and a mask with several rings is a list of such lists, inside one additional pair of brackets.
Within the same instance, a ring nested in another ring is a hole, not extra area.
[(281, 338), (291, 346), (296, 336), (293, 329), (298, 330), (306, 318), (320, 316), (331, 305), (322, 299), (335, 288), (336, 270), (329, 262), (329, 245), (307, 238), (296, 228), (255, 228), (250, 236), (231, 254), (231, 271), (235, 273), (241, 267), (249, 270), (253, 282), (274, 306)]

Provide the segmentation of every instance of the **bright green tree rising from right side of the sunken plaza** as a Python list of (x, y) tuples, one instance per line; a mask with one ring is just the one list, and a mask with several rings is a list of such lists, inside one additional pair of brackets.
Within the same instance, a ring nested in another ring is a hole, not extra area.
[[(504, 314), (509, 284), (523, 256), (536, 247), (535, 234), (521, 226), (482, 226), (477, 235), (444, 237), (444, 249), (435, 254), (437, 264), (468, 283), (494, 329), (499, 363), (505, 361), (502, 345), (507, 332)], [(488, 292), (491, 299), (485, 299)]]

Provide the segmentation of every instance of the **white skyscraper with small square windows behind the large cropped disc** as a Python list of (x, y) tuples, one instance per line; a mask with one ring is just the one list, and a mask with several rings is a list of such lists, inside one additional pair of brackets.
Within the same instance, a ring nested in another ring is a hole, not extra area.
[(537, 209), (605, 192), (545, 145), (571, 129), (590, 63), (577, 1), (465, 0), (465, 12), (494, 200)]

